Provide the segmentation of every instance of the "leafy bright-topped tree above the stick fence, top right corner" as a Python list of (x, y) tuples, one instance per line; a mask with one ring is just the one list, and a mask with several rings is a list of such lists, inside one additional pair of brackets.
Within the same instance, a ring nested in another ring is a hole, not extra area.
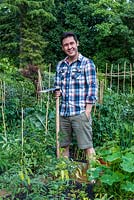
[(133, 45), (134, 3), (127, 1), (100, 0), (92, 4), (92, 16), (103, 18), (95, 25), (97, 30), (94, 59), (102, 63), (134, 62)]

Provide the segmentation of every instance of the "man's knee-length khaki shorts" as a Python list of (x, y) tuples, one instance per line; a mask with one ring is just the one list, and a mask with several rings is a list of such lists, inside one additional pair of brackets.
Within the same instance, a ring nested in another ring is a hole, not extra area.
[(74, 136), (80, 149), (93, 147), (92, 119), (91, 116), (88, 119), (85, 112), (80, 115), (60, 117), (60, 147), (70, 145)]

